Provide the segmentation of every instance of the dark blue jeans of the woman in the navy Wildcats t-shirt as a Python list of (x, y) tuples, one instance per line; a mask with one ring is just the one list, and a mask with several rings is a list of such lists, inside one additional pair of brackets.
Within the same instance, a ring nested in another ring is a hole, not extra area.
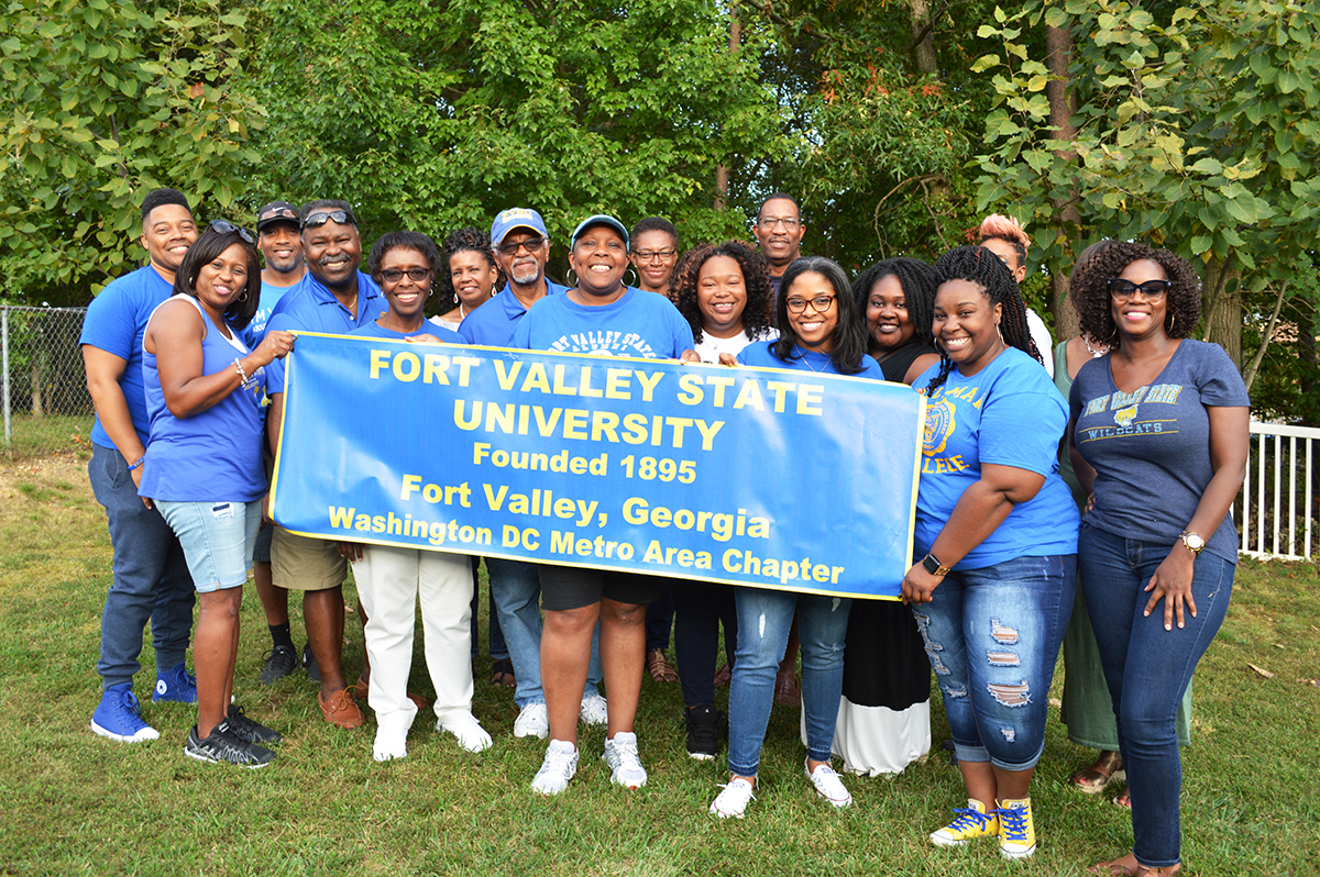
[(1188, 611), (1183, 628), (1166, 630), (1163, 601), (1150, 617), (1142, 612), (1150, 600), (1146, 584), (1172, 550), (1184, 549), (1127, 539), (1082, 521), (1077, 553), (1131, 790), (1133, 852), (1148, 868), (1180, 857), (1183, 762), (1175, 716), (1196, 662), (1224, 624), (1236, 571), (1224, 558), (1201, 551), (1192, 571), (1196, 617)]

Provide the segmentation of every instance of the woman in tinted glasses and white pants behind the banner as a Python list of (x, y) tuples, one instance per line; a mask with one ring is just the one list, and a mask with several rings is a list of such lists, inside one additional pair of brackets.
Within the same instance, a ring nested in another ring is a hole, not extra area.
[[(441, 268), (436, 243), (420, 232), (381, 235), (367, 257), (388, 310), (355, 335), (392, 340), (462, 344), (462, 336), (425, 319), (422, 309)], [(422, 651), (436, 688), (436, 729), (454, 735), (467, 752), (482, 752), (491, 736), (473, 715), (471, 563), (465, 554), (388, 545), (341, 543), (352, 563), (358, 597), (366, 609), (371, 686), (376, 713), (376, 761), (408, 756), (408, 729), (417, 703), (408, 696), (413, 626), (421, 600)]]

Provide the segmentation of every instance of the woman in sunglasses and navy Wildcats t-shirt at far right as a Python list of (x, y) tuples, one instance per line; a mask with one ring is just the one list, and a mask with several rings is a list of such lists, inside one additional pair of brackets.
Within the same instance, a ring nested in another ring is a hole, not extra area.
[(1175, 715), (1224, 622), (1246, 473), (1250, 400), (1216, 344), (1189, 338), (1200, 282), (1166, 249), (1115, 243), (1072, 289), (1085, 336), (1110, 351), (1077, 372), (1072, 459), (1090, 493), (1081, 586), (1118, 719), (1133, 852), (1094, 874), (1181, 868)]

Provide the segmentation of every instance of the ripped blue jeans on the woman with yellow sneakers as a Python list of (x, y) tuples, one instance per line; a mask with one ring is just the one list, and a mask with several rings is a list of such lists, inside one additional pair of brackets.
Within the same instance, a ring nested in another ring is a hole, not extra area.
[(1076, 580), (1074, 554), (1014, 558), (950, 572), (912, 607), (961, 761), (1027, 770), (1040, 760)]

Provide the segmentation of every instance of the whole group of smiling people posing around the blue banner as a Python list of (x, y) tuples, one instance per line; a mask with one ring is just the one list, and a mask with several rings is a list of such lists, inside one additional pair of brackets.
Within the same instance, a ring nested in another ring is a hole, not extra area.
[[(132, 691), (150, 619), (153, 700), (198, 704), (185, 754), (269, 764), (280, 733), (232, 702), (242, 586), (255, 568), (272, 637), (263, 682), (298, 667), (288, 591), (302, 591), (301, 663), (319, 682), (326, 721), (362, 725), (364, 698), (374, 757), (407, 757), (414, 717), (432, 706), (407, 688), (420, 601), (437, 729), (470, 752), (492, 745), (471, 708), (477, 559), (261, 526), (282, 360), (297, 331), (884, 380), (927, 397), (903, 603), (484, 558), (494, 680), (515, 687), (515, 736), (548, 740), (532, 789), (569, 786), (579, 720), (606, 725), (612, 782), (645, 785), (635, 719), (649, 669), (681, 682), (693, 758), (714, 758), (727, 733), (730, 779), (710, 811), (742, 818), (783, 665), (792, 674), (800, 649), (804, 771), (824, 801), (851, 803), (836, 754), (846, 770), (874, 774), (927, 753), (933, 670), (968, 807), (932, 843), (994, 837), (1005, 857), (1031, 856), (1047, 695), (1060, 646), (1076, 638), (1065, 649), (1065, 662), (1082, 655), (1076, 683), (1065, 665), (1065, 716), (1100, 728), (1096, 704), (1107, 700), (1111, 728), (1077, 729), (1102, 752), (1074, 783), (1098, 790), (1126, 771), (1134, 820), (1131, 853), (1092, 870), (1177, 870), (1176, 716), (1232, 590), (1228, 509), (1249, 419), (1232, 361), (1191, 338), (1192, 269), (1142, 244), (1093, 245), (1072, 277), (1081, 332), (1053, 347), (1018, 289), (1030, 239), (1005, 216), (935, 265), (888, 258), (854, 282), (834, 261), (800, 255), (805, 228), (791, 197), (768, 198), (752, 229), (756, 247), (682, 252), (661, 218), (630, 233), (614, 216), (587, 216), (569, 237), (564, 286), (546, 277), (550, 235), (525, 207), (499, 214), (488, 235), (459, 229), (444, 248), (387, 232), (363, 272), (347, 202), (272, 202), (253, 235), (223, 220), (199, 232), (182, 194), (150, 193), (141, 236), (150, 262), (92, 302), (82, 336), (96, 406), (90, 476), (115, 555), (92, 731), (127, 742), (158, 736)], [(428, 319), (437, 284), (450, 307)], [(810, 468), (838, 475), (828, 460)], [(341, 655), (350, 564), (366, 640), (351, 686)], [(1078, 584), (1088, 615), (1074, 611)], [(194, 590), (195, 678), (185, 661)], [(648, 649), (647, 607), (661, 596), (676, 673)], [(721, 624), (727, 667), (717, 669)], [(727, 719), (715, 708), (721, 675)]]

